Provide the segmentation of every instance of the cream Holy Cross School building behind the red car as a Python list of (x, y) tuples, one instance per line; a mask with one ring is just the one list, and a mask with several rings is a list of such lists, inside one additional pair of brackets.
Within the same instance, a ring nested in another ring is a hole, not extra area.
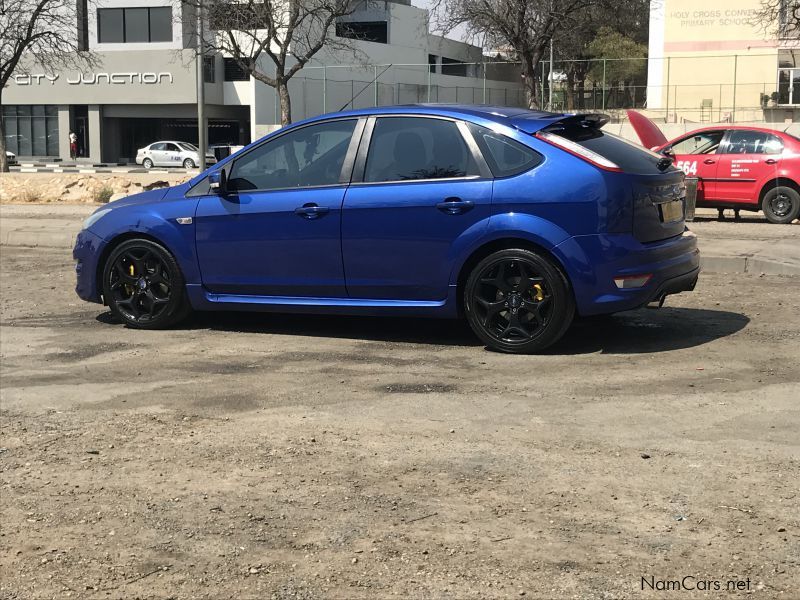
[(670, 122), (800, 120), (800, 45), (761, 0), (652, 0), (647, 108)]

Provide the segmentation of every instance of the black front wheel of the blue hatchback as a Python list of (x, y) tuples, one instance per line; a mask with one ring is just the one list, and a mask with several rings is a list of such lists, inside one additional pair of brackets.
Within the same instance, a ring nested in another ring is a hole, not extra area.
[(165, 329), (191, 312), (178, 263), (150, 240), (127, 240), (114, 248), (102, 284), (113, 315), (134, 329)]

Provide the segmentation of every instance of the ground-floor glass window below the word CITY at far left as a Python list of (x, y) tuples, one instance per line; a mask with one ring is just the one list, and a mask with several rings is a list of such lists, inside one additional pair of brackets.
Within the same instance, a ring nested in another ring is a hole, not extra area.
[(58, 108), (3, 106), (6, 148), (17, 156), (58, 156)]

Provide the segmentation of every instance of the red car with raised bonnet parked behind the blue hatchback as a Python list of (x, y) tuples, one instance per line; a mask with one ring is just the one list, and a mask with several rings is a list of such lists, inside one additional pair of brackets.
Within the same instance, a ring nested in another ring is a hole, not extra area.
[(771, 223), (800, 216), (800, 139), (763, 127), (716, 125), (668, 141), (644, 115), (628, 111), (642, 145), (697, 177), (697, 206), (764, 211)]

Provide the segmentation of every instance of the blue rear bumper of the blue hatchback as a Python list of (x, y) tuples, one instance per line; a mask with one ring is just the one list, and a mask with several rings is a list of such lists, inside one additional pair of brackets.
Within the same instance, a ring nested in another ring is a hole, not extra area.
[[(567, 271), (581, 315), (639, 308), (664, 295), (694, 289), (700, 272), (697, 237), (690, 231), (643, 244), (633, 236), (587, 235), (557, 246), (569, 260)], [(619, 289), (617, 277), (651, 275), (640, 288)]]

